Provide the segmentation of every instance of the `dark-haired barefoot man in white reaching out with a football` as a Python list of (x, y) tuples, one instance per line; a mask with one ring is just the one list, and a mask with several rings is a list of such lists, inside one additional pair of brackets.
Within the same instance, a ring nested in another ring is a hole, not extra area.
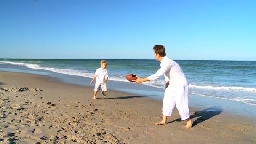
[(189, 84), (187, 79), (175, 61), (165, 56), (165, 47), (163, 45), (155, 45), (154, 55), (157, 61), (160, 61), (161, 68), (149, 77), (133, 80), (133, 83), (142, 83), (152, 81), (159, 78), (161, 75), (165, 76), (165, 94), (163, 98), (163, 120), (155, 123), (155, 125), (163, 125), (166, 123), (167, 117), (172, 115), (173, 109), (179, 111), (181, 120), (187, 120), (186, 128), (192, 127), (192, 120), (190, 120), (189, 107), (188, 107), (188, 90)]

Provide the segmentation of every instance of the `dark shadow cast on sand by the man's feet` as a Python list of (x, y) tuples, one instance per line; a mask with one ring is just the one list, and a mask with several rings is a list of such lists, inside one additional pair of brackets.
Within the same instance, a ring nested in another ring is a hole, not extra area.
[[(216, 115), (221, 114), (221, 112), (223, 111), (223, 109), (220, 106), (213, 106), (213, 107), (209, 107), (207, 109), (204, 109), (202, 111), (197, 111), (197, 112), (192, 112), (194, 113), (193, 115), (190, 115), (190, 118), (196, 118), (198, 117), (196, 120), (193, 121), (193, 125), (192, 127), (194, 127), (195, 125), (204, 122), (205, 120), (208, 120)], [(168, 123), (172, 123), (175, 121), (181, 121), (181, 118), (173, 120), (171, 122)], [(168, 124), (167, 123), (167, 124)]]

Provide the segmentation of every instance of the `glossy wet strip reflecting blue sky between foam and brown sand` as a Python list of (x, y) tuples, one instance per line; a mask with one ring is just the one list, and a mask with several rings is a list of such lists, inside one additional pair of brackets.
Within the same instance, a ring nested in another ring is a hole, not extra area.
[[(0, 71), (47, 75), (55, 77), (56, 80), (64, 83), (94, 87), (94, 84), (89, 84), (91, 78), (88, 77), (67, 75), (40, 69), (31, 69), (24, 66), (0, 64)], [(161, 88), (112, 80), (108, 80), (107, 87), (109, 90), (121, 91), (139, 96), (147, 96), (147, 98), (149, 99), (160, 102), (163, 101), (164, 89)], [(194, 107), (195, 109), (210, 108), (211, 111), (219, 111), (222, 109), (222, 112), (225, 112), (228, 115), (231, 114), (231, 116), (245, 116), (249, 117), (250, 119), (256, 118), (256, 106), (245, 104), (241, 101), (232, 101), (229, 99), (221, 99), (218, 97), (200, 96), (189, 93), (189, 107)]]

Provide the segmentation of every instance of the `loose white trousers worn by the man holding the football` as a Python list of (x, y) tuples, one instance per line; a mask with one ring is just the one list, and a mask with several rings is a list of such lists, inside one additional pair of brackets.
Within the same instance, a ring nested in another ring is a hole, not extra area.
[(189, 118), (188, 91), (189, 85), (186, 78), (170, 81), (163, 98), (163, 115), (171, 116), (176, 105), (181, 120), (187, 120)]

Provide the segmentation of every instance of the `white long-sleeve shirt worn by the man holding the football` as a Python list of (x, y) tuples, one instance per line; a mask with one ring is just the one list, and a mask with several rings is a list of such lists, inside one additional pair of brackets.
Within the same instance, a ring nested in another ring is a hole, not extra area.
[(160, 66), (161, 68), (158, 69), (155, 74), (147, 77), (150, 81), (161, 77), (161, 75), (165, 76), (165, 81), (170, 81), (174, 77), (186, 78), (179, 64), (169, 59), (167, 56), (163, 57)]

